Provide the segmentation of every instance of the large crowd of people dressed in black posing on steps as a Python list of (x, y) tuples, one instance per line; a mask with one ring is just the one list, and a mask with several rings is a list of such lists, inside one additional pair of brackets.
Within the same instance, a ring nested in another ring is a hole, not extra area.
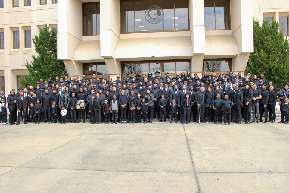
[[(195, 73), (176, 73), (161, 77), (156, 71), (136, 74), (135, 78), (116, 80), (106, 78), (55, 77), (55, 81), (40, 79), (35, 85), (12, 89), (5, 96), (0, 91), (0, 122), (9, 124), (34, 123), (152, 123), (158, 122), (212, 123), (231, 125), (275, 122), (276, 102), (279, 102), (281, 120), (288, 123), (288, 84), (277, 92), (264, 73), (251, 77), (241, 72), (233, 75), (204, 72), (199, 78)], [(79, 108), (79, 103), (83, 103)], [(17, 117), (18, 115), (18, 117)], [(232, 116), (231, 116), (232, 115)], [(243, 120), (242, 120), (243, 118)], [(264, 119), (263, 119), (264, 118)], [(170, 119), (170, 120), (169, 120)]]

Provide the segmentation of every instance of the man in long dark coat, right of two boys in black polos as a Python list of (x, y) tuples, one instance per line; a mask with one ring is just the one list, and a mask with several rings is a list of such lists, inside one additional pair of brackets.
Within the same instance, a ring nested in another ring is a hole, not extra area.
[(235, 121), (233, 123), (241, 124), (241, 104), (243, 102), (243, 93), (239, 90), (239, 86), (235, 86), (235, 93), (232, 101), (233, 113)]

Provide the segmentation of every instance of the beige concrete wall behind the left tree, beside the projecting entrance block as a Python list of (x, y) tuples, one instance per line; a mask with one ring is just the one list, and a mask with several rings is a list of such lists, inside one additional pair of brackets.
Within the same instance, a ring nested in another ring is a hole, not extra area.
[[(12, 88), (16, 89), (17, 76), (28, 74), (25, 62), (30, 62), (32, 54), (36, 54), (33, 43), (31, 48), (24, 48), (24, 30), (31, 29), (33, 37), (45, 24), (57, 27), (57, 6), (52, 1), (39, 5), (35, 0), (31, 1), (31, 6), (24, 6), (24, 1), (20, 0), (19, 7), (13, 8), (11, 0), (4, 0), (4, 8), (0, 9), (0, 29), (4, 31), (5, 49), (0, 50), (0, 71), (5, 78), (6, 95)], [(19, 30), (19, 49), (13, 49), (13, 30)]]

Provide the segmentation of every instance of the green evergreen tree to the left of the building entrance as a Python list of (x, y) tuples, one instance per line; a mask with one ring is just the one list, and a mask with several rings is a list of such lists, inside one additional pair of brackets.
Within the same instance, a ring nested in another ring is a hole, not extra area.
[(45, 26), (39, 35), (32, 38), (35, 51), (38, 55), (32, 55), (32, 61), (26, 61), (26, 68), (29, 72), (21, 79), (21, 84), (35, 85), (40, 78), (47, 80), (56, 76), (67, 76), (64, 62), (57, 59), (57, 31), (50, 30)]

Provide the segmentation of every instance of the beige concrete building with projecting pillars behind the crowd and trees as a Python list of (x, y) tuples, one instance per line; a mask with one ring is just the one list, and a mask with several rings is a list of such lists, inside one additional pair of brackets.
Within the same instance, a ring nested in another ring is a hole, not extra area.
[(286, 0), (0, 0), (0, 90), (4, 80), (5, 93), (21, 86), (35, 54), (29, 38), (45, 24), (58, 30), (70, 76), (244, 74), (253, 16), (279, 21), (288, 36)]

